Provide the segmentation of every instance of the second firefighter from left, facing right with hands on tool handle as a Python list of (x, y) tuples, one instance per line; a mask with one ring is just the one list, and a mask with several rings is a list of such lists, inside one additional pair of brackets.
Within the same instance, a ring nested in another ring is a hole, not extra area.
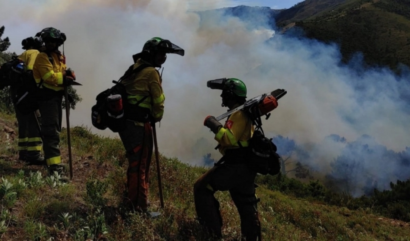
[(55, 171), (65, 176), (59, 143), (62, 123), (62, 98), (64, 88), (73, 84), (75, 74), (66, 70), (65, 56), (58, 50), (66, 41), (66, 35), (49, 27), (37, 34), (44, 43), (44, 50), (39, 53), (33, 67), (33, 75), (39, 89), (39, 110), (41, 113), (41, 133), (43, 135), (44, 158), (52, 175)]

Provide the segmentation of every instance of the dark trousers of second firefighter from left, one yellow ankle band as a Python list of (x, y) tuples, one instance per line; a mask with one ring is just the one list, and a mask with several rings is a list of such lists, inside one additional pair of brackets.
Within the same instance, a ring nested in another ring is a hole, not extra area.
[(47, 166), (61, 163), (59, 143), (62, 122), (61, 95), (39, 101), (41, 133), (43, 134), (44, 158)]

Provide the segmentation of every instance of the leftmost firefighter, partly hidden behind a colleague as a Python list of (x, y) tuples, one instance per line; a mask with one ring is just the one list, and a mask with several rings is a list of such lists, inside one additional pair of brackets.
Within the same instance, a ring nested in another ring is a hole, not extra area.
[[(34, 61), (42, 44), (39, 37), (25, 38), (21, 42), (22, 49), (25, 51), (18, 56), (18, 59), (24, 61), (29, 74), (33, 71)], [(23, 86), (11, 86), (11, 95), (16, 96), (16, 93), (22, 90), (21, 87)], [(15, 108), (15, 111), (18, 122), (18, 160), (25, 161), (28, 165), (43, 165), (42, 141), (36, 119), (40, 118), (39, 111), (30, 114), (23, 114), (18, 108)]]

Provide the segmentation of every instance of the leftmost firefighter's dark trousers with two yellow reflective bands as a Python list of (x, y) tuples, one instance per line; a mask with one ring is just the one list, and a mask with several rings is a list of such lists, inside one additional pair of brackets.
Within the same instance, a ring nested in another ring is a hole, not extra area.
[(18, 122), (18, 151), (27, 156), (38, 156), (41, 153), (41, 135), (37, 126), (36, 113), (23, 114), (15, 108)]

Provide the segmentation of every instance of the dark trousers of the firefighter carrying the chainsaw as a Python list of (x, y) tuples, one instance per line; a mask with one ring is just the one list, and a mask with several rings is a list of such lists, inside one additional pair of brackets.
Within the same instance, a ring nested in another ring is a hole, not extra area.
[(214, 192), (229, 191), (241, 218), (242, 235), (247, 241), (260, 240), (255, 176), (256, 173), (248, 169), (246, 164), (222, 164), (198, 178), (194, 184), (194, 201), (200, 223), (215, 236), (222, 236), (222, 218)]

